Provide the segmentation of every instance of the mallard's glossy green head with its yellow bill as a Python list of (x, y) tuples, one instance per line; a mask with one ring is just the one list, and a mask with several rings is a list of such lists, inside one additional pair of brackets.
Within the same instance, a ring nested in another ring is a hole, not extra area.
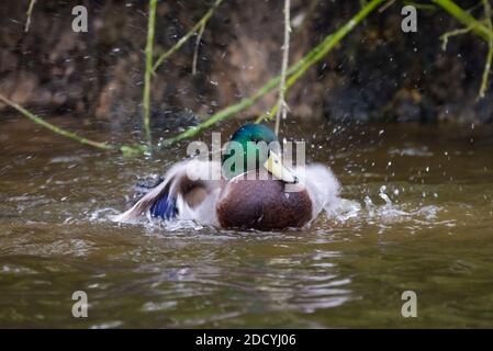
[(223, 155), (222, 170), (226, 179), (265, 167), (276, 178), (295, 183), (298, 178), (281, 162), (280, 145), (271, 128), (248, 123), (237, 129)]

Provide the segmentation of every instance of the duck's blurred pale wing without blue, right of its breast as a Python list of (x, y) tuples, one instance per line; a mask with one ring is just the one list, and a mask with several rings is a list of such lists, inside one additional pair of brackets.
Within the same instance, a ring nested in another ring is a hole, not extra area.
[(312, 218), (316, 218), (322, 210), (332, 215), (339, 204), (339, 181), (333, 171), (321, 163), (305, 167), (304, 183), (312, 199)]

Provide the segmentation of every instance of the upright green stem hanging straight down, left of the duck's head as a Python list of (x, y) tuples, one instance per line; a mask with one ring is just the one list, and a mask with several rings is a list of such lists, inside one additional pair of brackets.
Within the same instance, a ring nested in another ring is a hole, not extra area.
[(153, 146), (153, 136), (150, 134), (150, 75), (153, 72), (153, 45), (154, 45), (154, 32), (156, 23), (156, 4), (157, 0), (149, 0), (149, 20), (147, 23), (147, 44), (146, 44), (146, 69), (144, 73), (144, 93), (143, 93), (144, 132), (149, 147)]

